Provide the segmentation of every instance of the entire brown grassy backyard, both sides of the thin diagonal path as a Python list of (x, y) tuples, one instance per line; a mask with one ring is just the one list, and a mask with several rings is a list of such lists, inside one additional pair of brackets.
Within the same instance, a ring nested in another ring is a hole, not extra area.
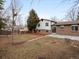
[(11, 35), (0, 36), (0, 59), (79, 59), (78, 41), (22, 34), (11, 43)]

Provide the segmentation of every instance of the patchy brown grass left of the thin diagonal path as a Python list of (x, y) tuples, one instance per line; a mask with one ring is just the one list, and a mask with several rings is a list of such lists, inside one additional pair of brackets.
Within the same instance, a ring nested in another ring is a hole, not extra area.
[(15, 34), (13, 35), (0, 35), (0, 48), (11, 46), (12, 42), (14, 44), (22, 44), (27, 42), (28, 40), (41, 37), (42, 35), (35, 35), (35, 34)]

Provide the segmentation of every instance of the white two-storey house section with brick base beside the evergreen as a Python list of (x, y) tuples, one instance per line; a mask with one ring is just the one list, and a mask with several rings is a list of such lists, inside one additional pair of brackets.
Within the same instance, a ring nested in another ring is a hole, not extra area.
[(55, 21), (48, 19), (41, 19), (37, 25), (37, 32), (52, 33), (51, 25), (55, 24)]

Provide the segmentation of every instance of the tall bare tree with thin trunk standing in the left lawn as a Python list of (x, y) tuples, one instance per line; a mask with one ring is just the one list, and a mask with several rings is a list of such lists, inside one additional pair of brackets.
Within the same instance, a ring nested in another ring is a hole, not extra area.
[(10, 6), (4, 10), (1, 16), (4, 16), (7, 20), (7, 28), (12, 30), (12, 44), (13, 44), (13, 32), (16, 26), (16, 20), (20, 13), (21, 7), (16, 3), (18, 0), (11, 0)]

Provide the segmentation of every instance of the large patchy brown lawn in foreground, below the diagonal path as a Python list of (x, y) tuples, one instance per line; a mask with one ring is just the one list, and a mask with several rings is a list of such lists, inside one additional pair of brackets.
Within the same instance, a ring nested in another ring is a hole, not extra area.
[(79, 59), (79, 42), (44, 37), (0, 49), (0, 59)]

